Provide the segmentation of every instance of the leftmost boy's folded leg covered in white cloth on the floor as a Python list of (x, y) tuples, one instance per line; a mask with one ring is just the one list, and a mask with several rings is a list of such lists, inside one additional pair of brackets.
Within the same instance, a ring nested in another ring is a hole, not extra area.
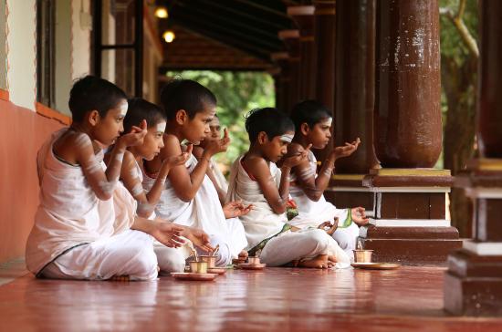
[(130, 280), (153, 280), (158, 272), (152, 244), (147, 233), (128, 230), (71, 249), (47, 265), (42, 275), (88, 280), (129, 275)]

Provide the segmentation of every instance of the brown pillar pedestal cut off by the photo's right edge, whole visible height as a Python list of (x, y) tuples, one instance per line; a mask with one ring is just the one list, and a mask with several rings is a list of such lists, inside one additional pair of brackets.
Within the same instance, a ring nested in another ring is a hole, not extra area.
[(502, 160), (470, 161), (455, 186), (474, 202), (475, 239), (448, 257), (444, 308), (458, 316), (502, 316)]

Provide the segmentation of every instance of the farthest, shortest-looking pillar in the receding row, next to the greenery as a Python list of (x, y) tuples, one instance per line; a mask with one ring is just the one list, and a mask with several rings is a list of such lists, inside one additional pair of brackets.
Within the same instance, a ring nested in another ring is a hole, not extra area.
[(272, 61), (277, 64), (277, 72), (274, 79), (276, 81), (276, 108), (288, 113), (291, 109), (289, 105), (289, 55), (288, 52), (272, 53)]

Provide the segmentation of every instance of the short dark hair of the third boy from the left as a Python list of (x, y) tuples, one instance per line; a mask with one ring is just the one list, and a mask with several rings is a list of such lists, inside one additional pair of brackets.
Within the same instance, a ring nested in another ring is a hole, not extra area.
[(161, 103), (167, 119), (174, 119), (176, 112), (184, 109), (188, 117), (204, 110), (204, 105), (216, 105), (216, 97), (209, 88), (192, 79), (173, 79), (162, 88)]

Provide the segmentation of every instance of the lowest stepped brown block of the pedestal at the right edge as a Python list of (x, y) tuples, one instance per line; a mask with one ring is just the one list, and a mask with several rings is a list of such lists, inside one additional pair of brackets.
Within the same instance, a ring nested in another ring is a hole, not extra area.
[(448, 257), (444, 309), (458, 316), (502, 316), (501, 255), (458, 250)]

